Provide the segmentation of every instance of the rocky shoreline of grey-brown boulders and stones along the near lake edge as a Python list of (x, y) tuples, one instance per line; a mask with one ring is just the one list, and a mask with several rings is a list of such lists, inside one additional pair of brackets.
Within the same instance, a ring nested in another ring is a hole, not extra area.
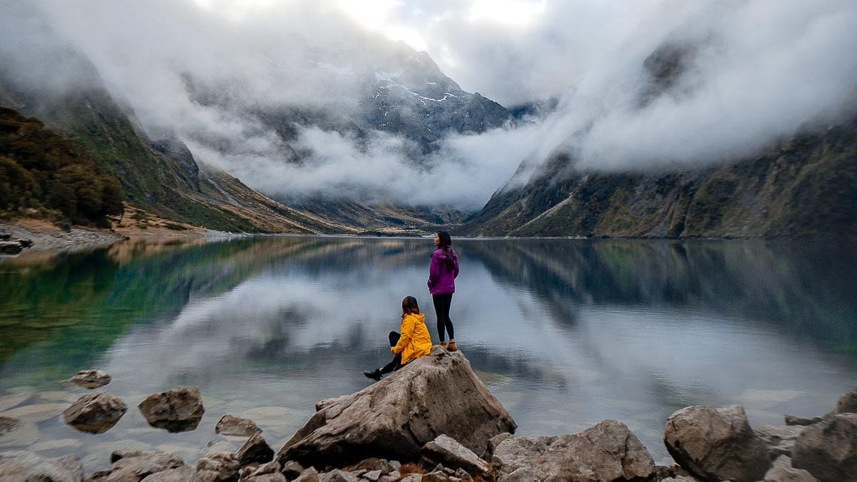
[[(67, 382), (103, 388), (110, 377), (82, 371)], [(154, 427), (194, 430), (200, 390), (153, 394), (139, 410)], [(63, 412), (78, 430), (102, 433), (128, 407), (104, 390)], [(74, 456), (43, 459), (0, 453), (0, 481), (52, 482), (581, 482), (857, 481), (857, 389), (812, 419), (752, 428), (743, 407), (685, 407), (668, 419), (663, 441), (674, 459), (656, 466), (643, 443), (616, 420), (576, 434), (514, 435), (517, 425), (461, 352), (434, 346), (405, 369), (351, 395), (320, 401), (279, 451), (250, 419), (225, 414), (215, 432), (241, 437), (237, 451), (213, 444), (188, 465), (167, 452), (116, 450), (109, 467), (85, 476)], [(0, 414), (0, 437), (21, 423)], [(105, 461), (105, 466), (108, 461)]]

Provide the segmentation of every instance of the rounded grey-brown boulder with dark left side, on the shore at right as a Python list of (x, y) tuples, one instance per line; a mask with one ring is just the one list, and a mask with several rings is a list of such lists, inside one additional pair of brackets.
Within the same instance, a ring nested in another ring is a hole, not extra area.
[(767, 447), (738, 405), (682, 408), (667, 419), (663, 443), (699, 479), (755, 482), (770, 467)]

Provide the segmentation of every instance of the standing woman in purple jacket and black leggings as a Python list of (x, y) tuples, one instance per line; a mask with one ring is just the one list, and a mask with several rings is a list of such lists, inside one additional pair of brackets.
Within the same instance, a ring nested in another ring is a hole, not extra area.
[[(458, 348), (455, 346), (452, 320), (449, 319), (449, 307), (452, 304), (452, 293), (455, 292), (455, 278), (458, 276), (458, 255), (452, 250), (452, 238), (446, 231), (434, 234), (434, 245), (437, 249), (431, 255), (431, 268), (428, 268), (428, 292), (431, 293), (434, 314), (437, 316), (440, 346), (454, 352)], [(445, 329), (449, 333), (449, 345), (444, 341)]]

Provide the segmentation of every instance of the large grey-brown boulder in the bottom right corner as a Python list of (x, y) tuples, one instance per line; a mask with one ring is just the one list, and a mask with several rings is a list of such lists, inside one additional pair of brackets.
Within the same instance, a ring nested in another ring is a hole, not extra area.
[(857, 481), (857, 413), (838, 413), (806, 427), (794, 444), (792, 466), (822, 482)]

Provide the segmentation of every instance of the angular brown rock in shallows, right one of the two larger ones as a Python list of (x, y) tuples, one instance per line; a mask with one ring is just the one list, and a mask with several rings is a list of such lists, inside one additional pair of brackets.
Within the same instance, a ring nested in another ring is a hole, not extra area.
[(149, 395), (138, 407), (149, 425), (168, 431), (194, 430), (206, 413), (198, 387), (179, 387)]

